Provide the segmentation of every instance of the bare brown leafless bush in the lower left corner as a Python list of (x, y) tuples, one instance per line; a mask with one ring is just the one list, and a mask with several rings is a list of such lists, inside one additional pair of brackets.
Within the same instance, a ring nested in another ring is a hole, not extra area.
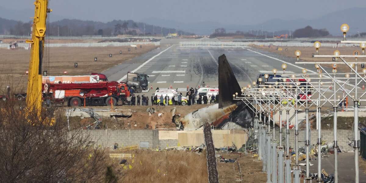
[(68, 131), (63, 113), (43, 109), (40, 119), (22, 103), (0, 102), (1, 183), (103, 182), (104, 150), (85, 131)]

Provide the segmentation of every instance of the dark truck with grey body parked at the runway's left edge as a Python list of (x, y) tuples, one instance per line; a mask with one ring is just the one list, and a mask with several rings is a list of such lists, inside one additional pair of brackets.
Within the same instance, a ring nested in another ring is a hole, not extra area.
[(127, 73), (127, 85), (131, 87), (134, 93), (141, 93), (142, 90), (147, 89), (147, 78), (146, 74), (139, 74), (135, 72)]

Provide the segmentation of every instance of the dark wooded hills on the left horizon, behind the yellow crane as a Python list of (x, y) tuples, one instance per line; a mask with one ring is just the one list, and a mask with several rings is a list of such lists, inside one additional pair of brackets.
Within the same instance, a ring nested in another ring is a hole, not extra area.
[[(30, 34), (31, 22), (22, 22), (0, 18), (0, 34), (26, 36)], [(48, 25), (49, 36), (84, 36), (100, 35), (112, 36), (153, 35), (175, 33), (176, 29), (154, 26), (133, 20), (112, 20), (110, 22), (96, 22), (90, 20), (62, 19)], [(178, 34), (191, 35), (193, 33), (178, 30)]]

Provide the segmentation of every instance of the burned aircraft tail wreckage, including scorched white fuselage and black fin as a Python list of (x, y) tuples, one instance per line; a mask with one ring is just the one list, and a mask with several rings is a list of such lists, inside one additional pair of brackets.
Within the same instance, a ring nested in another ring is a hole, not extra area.
[(219, 102), (218, 104), (198, 109), (181, 119), (173, 117), (173, 122), (181, 128), (195, 130), (208, 122), (214, 128), (241, 127), (251, 128), (254, 114), (242, 101), (234, 100), (232, 94), (240, 93), (240, 86), (235, 78), (225, 55), (219, 57)]

